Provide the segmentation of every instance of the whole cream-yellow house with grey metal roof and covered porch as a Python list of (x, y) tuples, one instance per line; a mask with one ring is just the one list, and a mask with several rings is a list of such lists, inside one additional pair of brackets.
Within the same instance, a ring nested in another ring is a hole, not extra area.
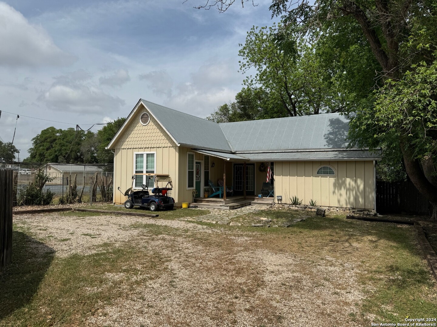
[(126, 200), (118, 187), (141, 188), (142, 176), (132, 181), (133, 174), (156, 173), (172, 177), (176, 206), (192, 202), (194, 190), (198, 198), (212, 194), (208, 181), (224, 180), (233, 196), (375, 210), (381, 153), (347, 149), (348, 129), (337, 113), (218, 124), (140, 99), (107, 146), (114, 204)]

